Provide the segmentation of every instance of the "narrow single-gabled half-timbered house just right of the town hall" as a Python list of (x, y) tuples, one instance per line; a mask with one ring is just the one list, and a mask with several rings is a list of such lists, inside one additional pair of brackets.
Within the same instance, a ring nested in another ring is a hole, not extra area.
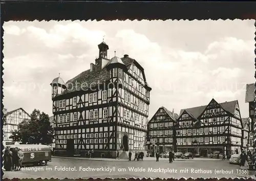
[(148, 151), (163, 152), (175, 149), (175, 130), (178, 115), (165, 107), (160, 107), (147, 123)]

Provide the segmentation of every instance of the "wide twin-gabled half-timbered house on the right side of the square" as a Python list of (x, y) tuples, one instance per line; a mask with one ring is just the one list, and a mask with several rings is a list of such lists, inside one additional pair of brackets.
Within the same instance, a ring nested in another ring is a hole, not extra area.
[(212, 99), (208, 105), (182, 109), (177, 122), (177, 151), (201, 156), (241, 151), (243, 125), (237, 100), (218, 103)]

